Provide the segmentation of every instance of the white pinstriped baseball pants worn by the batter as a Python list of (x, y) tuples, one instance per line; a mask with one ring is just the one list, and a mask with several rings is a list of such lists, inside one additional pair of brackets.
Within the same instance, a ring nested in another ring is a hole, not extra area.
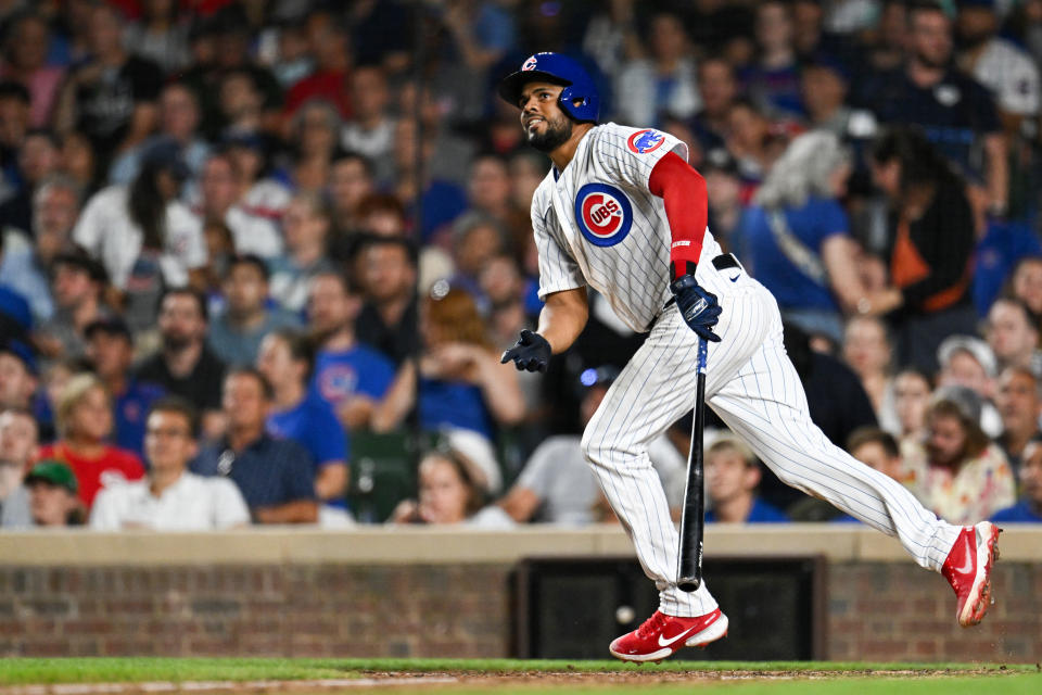
[[(939, 520), (903, 485), (855, 460), (811, 421), (806, 395), (785, 353), (774, 296), (745, 271), (699, 278), (723, 308), (710, 343), (706, 402), (778, 478), (898, 536), (920, 566), (939, 571), (960, 527)], [(737, 280), (730, 277), (739, 275)], [(630, 534), (660, 609), (701, 616), (716, 607), (706, 583), (675, 585), (677, 531), (647, 445), (695, 402), (698, 338), (675, 304), (651, 329), (586, 427), (583, 452)]]

